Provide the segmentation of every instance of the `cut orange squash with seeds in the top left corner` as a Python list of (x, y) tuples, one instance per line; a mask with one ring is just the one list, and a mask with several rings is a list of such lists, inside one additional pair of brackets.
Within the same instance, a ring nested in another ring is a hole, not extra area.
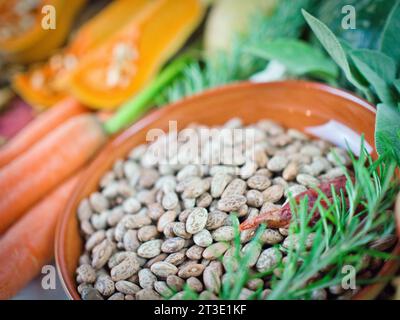
[[(0, 52), (6, 60), (30, 63), (47, 58), (65, 41), (86, 0), (8, 0), (0, 3)], [(42, 8), (51, 5), (56, 28), (42, 26)], [(62, 14), (61, 14), (62, 13)]]

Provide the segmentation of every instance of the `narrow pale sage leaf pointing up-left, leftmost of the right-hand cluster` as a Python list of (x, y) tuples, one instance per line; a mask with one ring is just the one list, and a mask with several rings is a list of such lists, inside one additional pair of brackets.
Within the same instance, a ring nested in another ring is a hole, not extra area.
[(343, 70), (347, 80), (364, 93), (368, 91), (365, 85), (363, 85), (353, 76), (346, 52), (333, 32), (322, 21), (318, 20), (307, 11), (302, 10), (302, 13), (311, 30), (321, 42), (322, 46), (332, 57), (333, 61), (335, 61), (336, 64)]

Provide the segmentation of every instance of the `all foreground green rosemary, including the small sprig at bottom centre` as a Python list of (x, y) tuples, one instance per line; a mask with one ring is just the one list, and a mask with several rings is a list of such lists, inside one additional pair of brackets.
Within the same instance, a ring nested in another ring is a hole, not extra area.
[[(269, 277), (272, 289), (267, 299), (310, 299), (316, 290), (340, 285), (344, 277), (342, 268), (345, 265), (353, 266), (358, 274), (363, 270), (366, 256), (383, 260), (398, 259), (390, 253), (370, 248), (371, 242), (392, 235), (395, 231), (392, 207), (400, 189), (395, 177), (396, 165), (385, 161), (384, 157), (373, 161), (365, 150), (359, 158), (351, 155), (351, 159), (351, 170), (343, 168), (347, 176), (347, 201), (343, 192), (333, 192), (331, 200), (320, 194), (310, 210), (307, 197), (299, 203), (290, 198), (293, 220), (289, 237), (296, 237), (297, 242), (296, 245), (292, 243), (288, 249), (276, 246), (285, 252), (286, 258), (285, 263), (281, 262), (275, 272), (269, 270), (263, 274), (251, 273), (247, 267), (251, 250), (243, 254), (239, 222), (233, 215), (233, 226), (236, 230), (233, 241), (235, 254), (227, 265), (227, 281), (222, 284), (219, 293), (221, 299), (236, 300), (250, 279), (265, 277)], [(322, 200), (328, 203), (327, 207), (321, 205)], [(309, 221), (317, 209), (321, 218), (310, 226)], [(265, 226), (261, 225), (250, 245), (259, 244), (264, 230)], [(313, 237), (313, 244), (307, 249), (306, 242), (310, 237)], [(322, 276), (311, 281), (318, 274)], [(387, 280), (377, 277), (356, 279), (356, 284), (360, 286)], [(198, 295), (188, 292), (186, 297), (197, 299)], [(263, 299), (261, 289), (251, 298)]]

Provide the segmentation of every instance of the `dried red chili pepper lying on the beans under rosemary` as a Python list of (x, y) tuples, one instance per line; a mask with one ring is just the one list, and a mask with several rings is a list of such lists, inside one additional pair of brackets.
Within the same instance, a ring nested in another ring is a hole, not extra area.
[[(332, 189), (333, 186), (335, 193), (339, 194), (340, 190), (346, 190), (346, 176), (340, 176), (338, 178), (329, 180), (327, 182), (321, 183), (318, 188), (323, 192), (328, 199), (332, 199)], [(300, 202), (305, 196), (308, 196), (308, 207), (311, 210), (314, 207), (315, 202), (318, 199), (318, 192), (315, 189), (310, 189), (304, 191), (295, 197), (297, 203)], [(327, 208), (328, 204), (321, 200), (320, 204)], [(320, 216), (319, 210), (315, 210), (315, 213), (311, 219), (311, 223), (315, 223)], [(261, 223), (267, 223), (269, 228), (283, 228), (287, 227), (292, 219), (292, 211), (290, 209), (290, 203), (286, 203), (280, 209), (270, 210), (261, 213), (253, 219), (248, 219), (240, 224), (240, 230), (247, 230), (257, 227)]]

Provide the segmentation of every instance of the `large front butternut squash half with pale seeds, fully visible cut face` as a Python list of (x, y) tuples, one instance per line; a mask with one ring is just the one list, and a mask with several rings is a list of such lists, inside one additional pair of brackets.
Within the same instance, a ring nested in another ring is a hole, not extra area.
[(114, 109), (139, 92), (186, 42), (200, 23), (201, 0), (156, 0), (69, 78), (69, 91), (86, 105)]

